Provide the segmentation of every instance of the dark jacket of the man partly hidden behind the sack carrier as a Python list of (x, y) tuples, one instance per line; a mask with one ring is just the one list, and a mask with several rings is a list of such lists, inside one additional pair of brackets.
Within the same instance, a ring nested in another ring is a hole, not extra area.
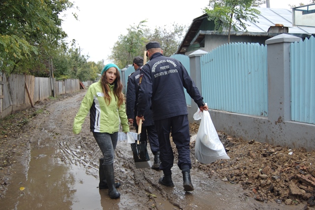
[[(139, 93), (139, 80), (141, 73), (141, 68), (138, 68), (135, 72), (128, 76), (127, 82), (127, 93), (126, 93), (126, 112), (128, 119), (133, 119), (133, 125), (136, 126), (136, 114), (137, 114), (137, 103), (138, 103), (138, 93)], [(152, 110), (150, 109), (151, 104), (146, 107), (144, 121), (142, 126), (154, 125), (152, 118)]]

